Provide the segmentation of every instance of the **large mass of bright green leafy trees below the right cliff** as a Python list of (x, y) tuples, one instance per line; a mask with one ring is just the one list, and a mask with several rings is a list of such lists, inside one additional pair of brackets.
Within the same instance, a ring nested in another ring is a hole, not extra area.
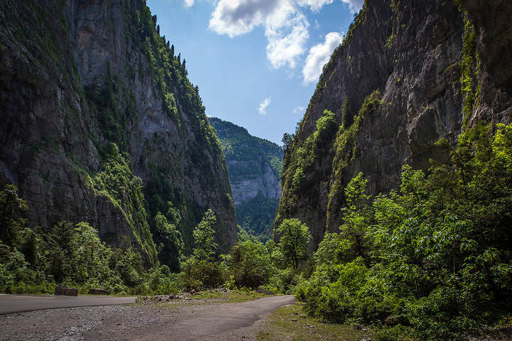
[(378, 340), (455, 340), (510, 316), (512, 126), (477, 125), (449, 152), (428, 176), (404, 166), (400, 192), (373, 202), (361, 173), (351, 180), (341, 234), (326, 234), (297, 286), (311, 314), (398, 325)]

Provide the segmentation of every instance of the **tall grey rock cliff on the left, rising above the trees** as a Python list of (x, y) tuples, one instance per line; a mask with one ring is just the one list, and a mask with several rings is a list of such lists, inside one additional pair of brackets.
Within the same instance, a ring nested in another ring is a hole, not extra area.
[[(188, 247), (212, 208), (227, 251), (236, 227), (225, 160), (184, 61), (145, 1), (1, 3), (0, 185), (19, 188), (30, 224), (90, 222), (105, 240), (128, 238), (154, 261), (151, 237), (127, 215), (151, 221), (171, 202)], [(128, 212), (123, 189), (95, 186), (110, 143), (142, 178), (145, 212)]]

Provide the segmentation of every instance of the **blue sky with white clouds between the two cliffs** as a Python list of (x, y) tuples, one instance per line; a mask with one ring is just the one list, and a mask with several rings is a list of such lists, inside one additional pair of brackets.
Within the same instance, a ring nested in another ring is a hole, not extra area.
[(147, 0), (208, 116), (281, 144), (363, 0)]

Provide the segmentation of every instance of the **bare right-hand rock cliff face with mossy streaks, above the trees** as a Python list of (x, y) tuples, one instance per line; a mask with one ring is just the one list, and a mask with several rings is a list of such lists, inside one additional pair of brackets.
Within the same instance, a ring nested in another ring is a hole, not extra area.
[(306, 222), (315, 249), (338, 230), (353, 175), (369, 178), (370, 193), (387, 192), (404, 164), (427, 169), (447, 157), (439, 138), (511, 119), (511, 6), (462, 3), (366, 1), (287, 146), (276, 224)]

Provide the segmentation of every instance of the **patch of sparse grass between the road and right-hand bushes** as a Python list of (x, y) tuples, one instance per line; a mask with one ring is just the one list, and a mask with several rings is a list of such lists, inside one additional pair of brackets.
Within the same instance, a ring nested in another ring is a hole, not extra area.
[(372, 332), (366, 328), (360, 330), (353, 325), (332, 325), (311, 318), (302, 309), (300, 303), (287, 305), (271, 313), (262, 331), (258, 332), (258, 341), (309, 341), (309, 340), (370, 340)]

